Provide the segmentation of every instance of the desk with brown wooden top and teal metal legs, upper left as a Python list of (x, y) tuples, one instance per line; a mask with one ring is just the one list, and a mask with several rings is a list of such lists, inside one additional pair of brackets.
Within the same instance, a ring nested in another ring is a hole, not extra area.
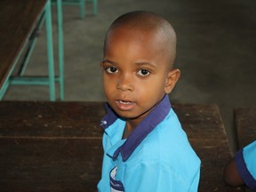
[[(61, 3), (61, 0), (58, 0)], [(61, 5), (61, 4), (60, 4)], [(58, 6), (58, 8), (60, 7)], [(58, 9), (59, 68), (60, 78), (55, 78), (52, 48), (51, 0), (1, 0), (0, 1), (0, 100), (10, 84), (48, 85), (50, 100), (55, 100), (55, 81), (60, 83), (60, 97), (63, 92), (63, 45), (61, 10)], [(45, 26), (48, 52), (47, 78), (25, 77), (11, 79), (20, 55), (28, 44), (36, 24), (45, 12)], [(64, 94), (64, 93), (63, 93)], [(63, 96), (62, 96), (63, 97)], [(62, 98), (61, 98), (62, 99)]]

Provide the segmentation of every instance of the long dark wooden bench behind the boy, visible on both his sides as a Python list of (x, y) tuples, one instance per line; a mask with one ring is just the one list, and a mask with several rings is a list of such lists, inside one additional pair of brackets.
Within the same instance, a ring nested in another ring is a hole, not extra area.
[[(202, 160), (199, 191), (227, 191), (231, 157), (215, 105), (173, 105)], [(96, 191), (101, 102), (0, 102), (1, 191)]]

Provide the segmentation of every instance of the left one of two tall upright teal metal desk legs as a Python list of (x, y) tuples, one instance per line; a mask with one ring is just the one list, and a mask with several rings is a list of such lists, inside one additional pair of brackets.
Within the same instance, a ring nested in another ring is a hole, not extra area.
[(52, 47), (52, 12), (51, 12), (50, 0), (48, 0), (45, 7), (45, 28), (46, 28), (46, 38), (47, 38), (50, 100), (53, 101), (56, 99), (55, 99), (54, 60), (53, 60), (53, 47)]

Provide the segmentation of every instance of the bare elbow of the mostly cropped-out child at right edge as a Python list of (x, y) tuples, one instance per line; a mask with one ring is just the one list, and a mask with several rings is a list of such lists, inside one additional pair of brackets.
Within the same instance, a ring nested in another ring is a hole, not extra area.
[(232, 158), (228, 162), (224, 170), (224, 180), (228, 185), (233, 187), (241, 186), (244, 184), (244, 180), (242, 180), (236, 168), (236, 163), (234, 158)]

